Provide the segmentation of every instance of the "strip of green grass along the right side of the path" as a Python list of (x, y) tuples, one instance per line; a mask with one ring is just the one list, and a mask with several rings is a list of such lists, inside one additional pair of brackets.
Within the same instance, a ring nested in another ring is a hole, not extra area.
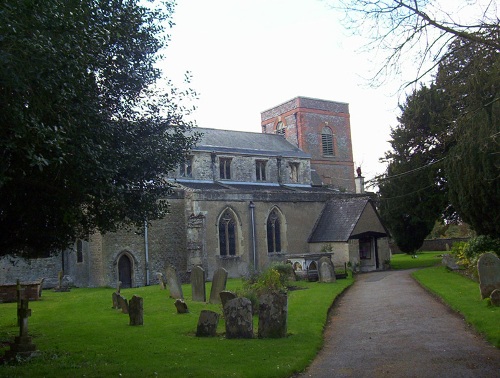
[(441, 298), (451, 309), (497, 348), (500, 348), (500, 307), (481, 299), (479, 284), (443, 266), (421, 269), (413, 277), (427, 290)]

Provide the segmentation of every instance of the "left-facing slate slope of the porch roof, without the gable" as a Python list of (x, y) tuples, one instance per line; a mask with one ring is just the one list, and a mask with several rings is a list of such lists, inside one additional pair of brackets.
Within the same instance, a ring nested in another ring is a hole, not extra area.
[(346, 242), (349, 240), (368, 203), (368, 197), (329, 200), (309, 236), (309, 243)]

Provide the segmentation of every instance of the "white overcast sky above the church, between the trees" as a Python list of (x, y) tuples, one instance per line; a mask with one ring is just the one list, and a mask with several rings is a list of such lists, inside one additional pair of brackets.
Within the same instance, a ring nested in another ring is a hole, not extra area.
[(319, 0), (179, 0), (162, 67), (175, 84), (192, 73), (200, 127), (261, 132), (260, 113), (296, 96), (348, 103), (368, 180), (385, 169), (402, 80), (370, 88), (380, 66), (341, 18)]

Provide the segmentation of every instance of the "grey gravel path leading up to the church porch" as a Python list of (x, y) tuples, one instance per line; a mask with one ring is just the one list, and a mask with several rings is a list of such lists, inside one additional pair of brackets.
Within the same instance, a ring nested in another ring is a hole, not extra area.
[(410, 273), (359, 275), (333, 308), (324, 348), (299, 377), (500, 377), (500, 349)]

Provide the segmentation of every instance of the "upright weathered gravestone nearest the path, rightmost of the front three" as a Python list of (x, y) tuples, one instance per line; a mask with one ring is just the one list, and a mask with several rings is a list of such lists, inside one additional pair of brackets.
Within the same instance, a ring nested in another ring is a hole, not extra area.
[(269, 293), (259, 298), (259, 338), (286, 337), (288, 295)]

